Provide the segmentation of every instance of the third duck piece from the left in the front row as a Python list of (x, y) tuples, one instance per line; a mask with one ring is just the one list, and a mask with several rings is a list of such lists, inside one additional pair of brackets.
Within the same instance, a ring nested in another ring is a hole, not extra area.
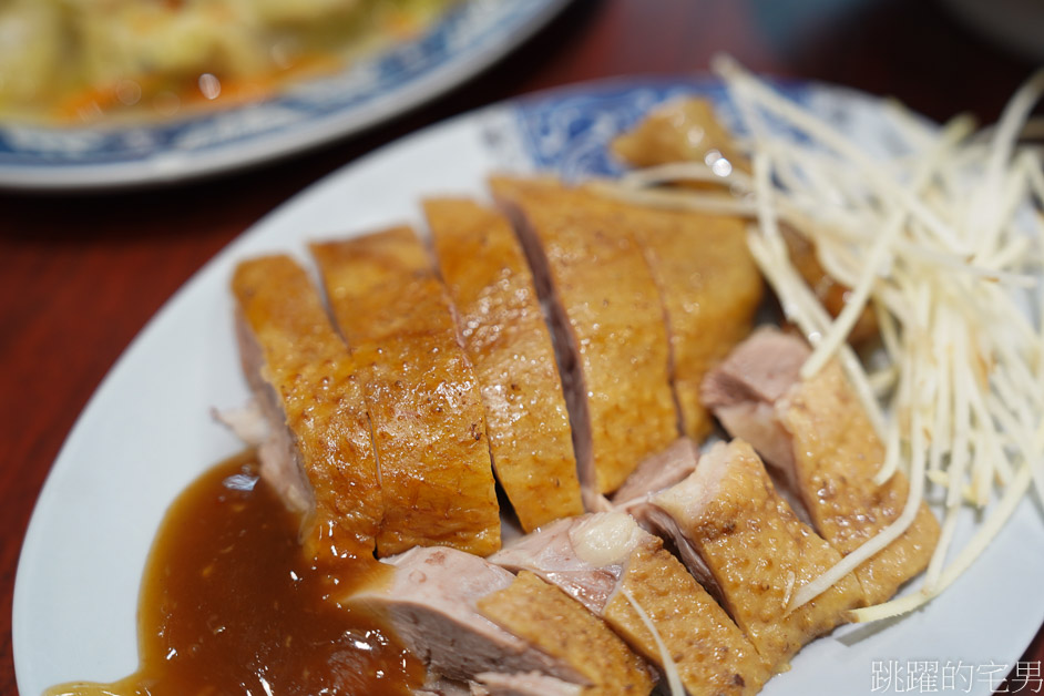
[(864, 604), (859, 583), (847, 575), (813, 602), (787, 611), (794, 592), (841, 554), (798, 520), (741, 440), (716, 443), (692, 475), (632, 511), (675, 541), (693, 574), (778, 671)]

